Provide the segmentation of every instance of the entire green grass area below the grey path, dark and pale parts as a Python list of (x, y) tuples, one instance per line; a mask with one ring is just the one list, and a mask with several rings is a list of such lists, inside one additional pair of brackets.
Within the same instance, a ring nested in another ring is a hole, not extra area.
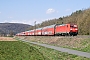
[(0, 41), (0, 60), (90, 60), (22, 41)]

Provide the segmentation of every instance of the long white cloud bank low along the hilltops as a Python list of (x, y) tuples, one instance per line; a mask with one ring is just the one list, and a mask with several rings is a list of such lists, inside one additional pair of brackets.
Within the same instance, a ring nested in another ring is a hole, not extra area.
[(47, 21), (47, 20), (51, 20), (51, 19), (55, 19), (53, 18), (47, 18), (47, 19), (30, 19), (30, 20), (4, 20), (4, 23), (23, 23), (23, 24), (29, 24), (29, 25), (35, 25), (35, 21), (36, 24), (38, 23), (42, 23), (43, 21)]

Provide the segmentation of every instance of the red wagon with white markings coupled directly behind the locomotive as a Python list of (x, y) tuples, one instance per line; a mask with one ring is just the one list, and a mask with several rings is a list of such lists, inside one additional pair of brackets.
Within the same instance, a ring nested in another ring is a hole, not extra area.
[(46, 26), (42, 28), (42, 35), (54, 35), (55, 25)]

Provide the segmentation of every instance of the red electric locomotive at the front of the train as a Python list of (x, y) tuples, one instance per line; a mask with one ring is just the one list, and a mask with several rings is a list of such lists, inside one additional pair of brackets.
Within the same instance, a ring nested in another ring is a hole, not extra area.
[(78, 27), (75, 24), (56, 25), (55, 34), (76, 36), (78, 34)]

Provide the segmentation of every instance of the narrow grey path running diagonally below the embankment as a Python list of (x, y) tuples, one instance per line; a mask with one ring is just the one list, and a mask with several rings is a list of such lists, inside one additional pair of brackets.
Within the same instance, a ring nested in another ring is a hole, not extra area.
[(61, 52), (67, 52), (69, 54), (75, 54), (75, 55), (78, 55), (78, 56), (83, 56), (83, 57), (90, 58), (90, 53), (87, 53), (87, 52), (81, 52), (81, 51), (77, 51), (77, 50), (71, 50), (71, 49), (68, 49), (68, 48), (61, 48), (61, 47), (51, 46), (51, 45), (47, 45), (47, 44), (30, 42), (30, 41), (26, 41), (26, 40), (22, 40), (22, 41), (29, 42), (29, 43), (32, 43), (32, 44), (37, 44), (37, 45), (44, 46), (44, 47), (51, 48), (51, 49), (55, 49), (55, 50), (58, 50), (58, 51), (61, 51)]

